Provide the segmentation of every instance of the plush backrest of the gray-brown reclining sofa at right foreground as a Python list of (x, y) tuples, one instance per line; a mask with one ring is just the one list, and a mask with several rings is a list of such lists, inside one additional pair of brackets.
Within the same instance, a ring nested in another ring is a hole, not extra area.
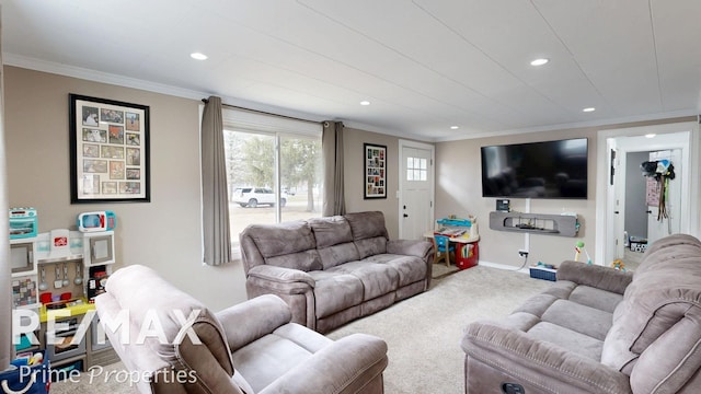
[(625, 289), (601, 361), (629, 373), (641, 392), (686, 382), (701, 364), (700, 317), (701, 242), (681, 234), (662, 239)]

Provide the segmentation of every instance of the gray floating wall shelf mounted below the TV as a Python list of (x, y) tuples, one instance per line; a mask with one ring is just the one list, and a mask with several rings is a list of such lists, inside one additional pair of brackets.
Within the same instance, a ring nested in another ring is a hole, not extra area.
[(573, 215), (490, 212), (490, 229), (531, 234), (577, 236), (579, 221)]

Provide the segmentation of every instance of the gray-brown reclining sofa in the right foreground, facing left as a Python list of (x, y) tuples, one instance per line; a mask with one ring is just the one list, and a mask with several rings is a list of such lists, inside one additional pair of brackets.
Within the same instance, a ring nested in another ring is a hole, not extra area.
[(565, 262), (461, 346), (467, 393), (701, 393), (701, 242), (662, 239), (635, 273)]

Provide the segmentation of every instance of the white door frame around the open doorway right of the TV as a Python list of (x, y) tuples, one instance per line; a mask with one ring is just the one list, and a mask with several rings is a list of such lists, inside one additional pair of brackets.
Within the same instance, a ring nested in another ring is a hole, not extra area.
[[(700, 213), (699, 206), (701, 205), (701, 198), (699, 197), (700, 183), (698, 176), (694, 178), (691, 174), (692, 169), (699, 167), (699, 124), (693, 121), (683, 121), (665, 125), (653, 125), (643, 127), (631, 127), (622, 129), (611, 129), (599, 131), (597, 136), (597, 178), (596, 178), (596, 258), (599, 265), (608, 265), (607, 262), (612, 260), (612, 256), (616, 255), (616, 236), (614, 221), (614, 197), (612, 187), (610, 187), (609, 176), (611, 167), (610, 149), (614, 147), (617, 149), (617, 155), (624, 154), (623, 150), (616, 147), (616, 139), (620, 137), (641, 137), (644, 138), (647, 134), (685, 134), (686, 140), (683, 147), (680, 147), (679, 142), (655, 144), (650, 142), (645, 147), (635, 149), (636, 151), (647, 151), (657, 149), (671, 149), (681, 148), (682, 158), (681, 163), (687, 171), (682, 172), (683, 184), (681, 195), (681, 210), (682, 212), (697, 212), (696, 216), (685, 217), (680, 223), (680, 231), (699, 236), (700, 231)], [(631, 150), (632, 151), (632, 150)], [(625, 151), (627, 152), (627, 151)], [(622, 171), (622, 170), (621, 170)], [(619, 207), (620, 208), (620, 207)], [(620, 235), (620, 234), (619, 234)]]

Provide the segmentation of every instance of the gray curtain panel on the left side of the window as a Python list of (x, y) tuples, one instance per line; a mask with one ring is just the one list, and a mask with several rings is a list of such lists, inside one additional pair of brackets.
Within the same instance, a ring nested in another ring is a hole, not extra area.
[(202, 117), (202, 205), (204, 262), (221, 265), (231, 260), (229, 195), (223, 151), (221, 99), (205, 101)]

